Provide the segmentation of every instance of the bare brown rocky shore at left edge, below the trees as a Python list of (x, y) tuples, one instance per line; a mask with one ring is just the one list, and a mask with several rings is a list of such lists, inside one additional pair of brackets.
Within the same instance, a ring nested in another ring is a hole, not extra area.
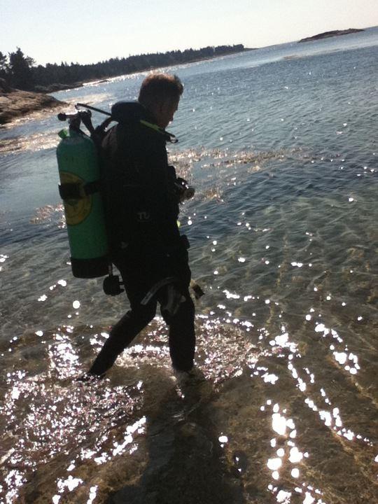
[(55, 109), (62, 105), (64, 102), (48, 94), (14, 89), (0, 79), (0, 125), (31, 112)]

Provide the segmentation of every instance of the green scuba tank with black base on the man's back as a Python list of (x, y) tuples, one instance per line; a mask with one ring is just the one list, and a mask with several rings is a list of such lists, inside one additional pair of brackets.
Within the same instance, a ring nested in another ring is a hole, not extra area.
[(102, 197), (99, 193), (99, 160), (90, 137), (69, 128), (59, 132), (57, 146), (59, 193), (71, 251), (71, 268), (77, 278), (108, 274), (108, 240)]

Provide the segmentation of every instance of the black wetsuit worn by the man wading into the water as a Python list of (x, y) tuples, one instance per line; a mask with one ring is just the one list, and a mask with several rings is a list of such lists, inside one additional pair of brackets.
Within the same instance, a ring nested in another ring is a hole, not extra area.
[[(125, 283), (130, 311), (111, 329), (90, 374), (103, 374), (113, 365), (153, 319), (158, 302), (169, 325), (172, 365), (188, 371), (195, 352), (195, 309), (188, 292), (188, 241), (177, 225), (179, 195), (174, 167), (167, 162), (167, 139), (140, 123), (153, 120), (138, 103), (120, 102), (112, 115), (118, 125), (102, 144), (104, 203), (112, 259)], [(165, 285), (159, 288), (160, 284)], [(180, 300), (173, 311), (164, 309), (168, 286)]]

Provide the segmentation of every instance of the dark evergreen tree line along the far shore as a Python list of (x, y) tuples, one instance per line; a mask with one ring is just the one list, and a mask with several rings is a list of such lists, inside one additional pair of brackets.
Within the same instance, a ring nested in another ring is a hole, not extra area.
[(193, 62), (198, 59), (216, 57), (241, 52), (243, 44), (208, 46), (201, 49), (173, 50), (155, 52), (123, 58), (111, 58), (92, 64), (71, 62), (38, 64), (26, 56), (20, 48), (4, 55), (0, 51), (0, 78), (10, 87), (27, 91), (45, 91), (53, 85), (59, 87), (75, 85), (87, 80), (101, 80), (125, 73), (150, 70), (160, 66)]

